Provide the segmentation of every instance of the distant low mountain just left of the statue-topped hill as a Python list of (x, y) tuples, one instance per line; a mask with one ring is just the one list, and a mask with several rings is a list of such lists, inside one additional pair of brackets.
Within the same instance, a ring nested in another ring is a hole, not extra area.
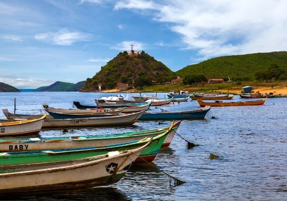
[(35, 91), (79, 91), (83, 87), (84, 83), (85, 81), (78, 82), (77, 84), (56, 81), (49, 86), (36, 88)]

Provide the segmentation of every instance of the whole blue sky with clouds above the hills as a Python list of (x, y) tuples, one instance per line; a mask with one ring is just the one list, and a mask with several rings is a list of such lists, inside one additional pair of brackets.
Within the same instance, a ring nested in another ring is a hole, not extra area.
[(174, 72), (286, 51), (286, 8), (285, 0), (0, 0), (0, 82), (84, 81), (130, 44)]

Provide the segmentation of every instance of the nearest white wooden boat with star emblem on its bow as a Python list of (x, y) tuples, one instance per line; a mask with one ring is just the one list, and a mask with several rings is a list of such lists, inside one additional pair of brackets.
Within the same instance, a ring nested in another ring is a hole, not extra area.
[(0, 194), (51, 192), (110, 185), (119, 181), (151, 142), (125, 151), (67, 162), (2, 167)]

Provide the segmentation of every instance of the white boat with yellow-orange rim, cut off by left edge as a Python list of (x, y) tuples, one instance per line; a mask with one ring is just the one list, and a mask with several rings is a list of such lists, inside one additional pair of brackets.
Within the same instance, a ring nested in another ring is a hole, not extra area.
[(47, 115), (39, 119), (0, 123), (0, 136), (38, 134)]

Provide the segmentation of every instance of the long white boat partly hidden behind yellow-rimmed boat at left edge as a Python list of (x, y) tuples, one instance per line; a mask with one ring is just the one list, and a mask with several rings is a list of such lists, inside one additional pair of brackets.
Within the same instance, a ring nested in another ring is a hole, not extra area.
[[(8, 112), (8, 110), (5, 110)], [(4, 113), (6, 117), (11, 117), (11, 113)], [(119, 126), (132, 125), (145, 111), (136, 113), (120, 114), (107, 117), (91, 117), (79, 119), (46, 119), (42, 128), (77, 128), (77, 127), (95, 127), (95, 126)], [(30, 116), (33, 118), (33, 116)], [(11, 119), (9, 119), (11, 121)], [(12, 120), (13, 121), (13, 120)]]

